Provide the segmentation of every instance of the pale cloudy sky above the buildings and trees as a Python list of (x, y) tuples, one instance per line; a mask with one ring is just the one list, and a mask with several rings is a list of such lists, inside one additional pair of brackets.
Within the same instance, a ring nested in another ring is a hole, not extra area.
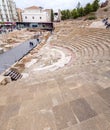
[[(24, 9), (29, 6), (41, 6), (45, 9), (73, 9), (80, 2), (82, 6), (94, 0), (14, 0), (18, 8)], [(105, 0), (100, 0), (103, 2)]]

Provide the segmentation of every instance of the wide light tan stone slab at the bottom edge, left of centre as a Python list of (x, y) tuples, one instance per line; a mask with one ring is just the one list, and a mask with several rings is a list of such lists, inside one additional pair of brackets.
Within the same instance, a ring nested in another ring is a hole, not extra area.
[(11, 118), (7, 128), (7, 130), (56, 130), (56, 125), (50, 110)]

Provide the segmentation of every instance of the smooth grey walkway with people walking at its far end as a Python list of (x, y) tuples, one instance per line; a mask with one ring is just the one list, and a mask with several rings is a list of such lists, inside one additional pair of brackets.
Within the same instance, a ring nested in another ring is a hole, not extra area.
[(31, 41), (33, 42), (33, 45), (30, 45), (30, 41), (27, 41), (3, 54), (0, 54), (0, 73), (11, 67), (37, 46), (38, 42), (36, 39)]

